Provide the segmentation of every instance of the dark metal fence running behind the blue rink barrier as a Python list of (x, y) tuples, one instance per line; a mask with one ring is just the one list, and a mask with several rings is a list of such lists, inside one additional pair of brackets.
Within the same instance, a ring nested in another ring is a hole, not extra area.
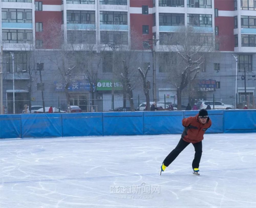
[[(239, 95), (238, 98), (234, 95), (213, 95), (213, 96), (206, 96), (202, 98), (188, 98), (188, 97), (182, 97), (182, 109), (185, 110), (188, 103), (190, 103), (191, 106), (194, 105), (194, 103), (197, 104), (197, 107), (200, 108), (200, 102), (202, 100), (212, 101), (212, 102), (222, 102), (225, 105), (232, 105), (234, 108), (243, 109), (245, 105), (248, 106), (248, 109), (256, 109), (256, 96), (252, 95)], [(153, 98), (150, 97), (150, 101), (153, 101)], [(33, 98), (33, 100), (15, 100), (15, 114), (21, 114), (24, 113), (24, 107), (25, 105), (29, 106), (31, 102), (31, 106), (38, 106), (42, 107), (42, 99), (41, 98)], [(134, 96), (133, 97), (134, 102), (134, 108), (136, 110), (142, 110), (145, 107), (142, 105), (143, 103), (146, 103), (146, 98), (142, 96)], [(4, 100), (4, 113), (5, 114), (13, 114), (13, 100)], [(61, 111), (68, 111), (68, 104), (66, 99), (61, 99), (59, 97), (47, 97), (44, 99), (45, 107), (56, 107)], [(162, 96), (157, 98), (157, 105), (160, 106), (161, 103), (168, 107), (170, 103), (174, 106), (174, 108), (177, 108), (177, 97), (175, 96)], [(82, 112), (108, 112), (108, 111), (129, 111), (130, 107), (130, 101), (129, 99), (123, 99), (122, 96), (119, 97), (103, 97), (103, 99), (76, 99), (73, 100), (72, 103), (69, 103), (70, 105), (77, 105), (82, 109)], [(126, 105), (126, 109), (124, 110), (124, 104)], [(216, 104), (215, 104), (216, 105)], [(113, 110), (114, 106), (114, 110)], [(118, 109), (121, 108), (121, 109)], [(214, 106), (212, 107), (214, 109)], [(32, 108), (31, 108), (32, 110)], [(55, 109), (55, 111), (57, 111)], [(29, 113), (30, 111), (28, 111)]]

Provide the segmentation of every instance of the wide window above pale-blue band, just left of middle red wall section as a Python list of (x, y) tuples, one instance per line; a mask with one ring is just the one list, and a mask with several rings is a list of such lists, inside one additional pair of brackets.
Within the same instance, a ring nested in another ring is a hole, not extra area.
[(100, 11), (100, 24), (127, 25), (127, 12)]

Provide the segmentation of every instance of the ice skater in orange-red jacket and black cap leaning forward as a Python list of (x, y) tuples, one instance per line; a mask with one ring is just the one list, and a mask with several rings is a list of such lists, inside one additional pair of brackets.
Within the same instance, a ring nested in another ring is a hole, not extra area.
[(211, 126), (211, 120), (207, 110), (202, 109), (196, 116), (184, 118), (182, 120), (182, 125), (185, 128), (181, 135), (181, 139), (175, 149), (171, 151), (162, 162), (160, 176), (161, 172), (164, 171), (190, 143), (192, 143), (195, 148), (195, 157), (192, 162), (192, 168), (194, 173), (199, 174), (199, 163), (202, 156), (202, 140), (204, 139), (205, 131)]

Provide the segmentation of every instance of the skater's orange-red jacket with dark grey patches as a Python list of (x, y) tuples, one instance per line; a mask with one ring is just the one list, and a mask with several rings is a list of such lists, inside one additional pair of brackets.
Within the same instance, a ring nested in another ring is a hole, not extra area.
[(198, 114), (194, 117), (184, 118), (182, 125), (185, 127), (181, 138), (189, 143), (197, 143), (204, 139), (205, 131), (211, 126), (211, 119), (208, 117), (205, 124), (198, 121)]

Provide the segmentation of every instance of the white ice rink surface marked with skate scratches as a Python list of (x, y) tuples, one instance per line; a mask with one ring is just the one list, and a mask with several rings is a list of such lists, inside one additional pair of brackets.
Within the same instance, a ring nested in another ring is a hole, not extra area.
[(0, 141), (0, 207), (256, 207), (256, 133), (206, 134), (200, 176), (180, 135)]

